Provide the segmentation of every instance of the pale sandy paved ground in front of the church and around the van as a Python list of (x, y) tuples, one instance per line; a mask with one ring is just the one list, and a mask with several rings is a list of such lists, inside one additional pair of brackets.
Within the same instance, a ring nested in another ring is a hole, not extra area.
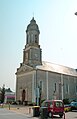
[[(33, 109), (31, 106), (9, 106), (6, 108), (10, 112), (17, 113), (19, 115), (25, 115), (27, 118), (40, 119), (39, 117), (33, 117)], [(64, 119), (59, 116), (54, 116), (53, 119)], [(65, 119), (77, 119), (77, 111), (65, 113)]]

